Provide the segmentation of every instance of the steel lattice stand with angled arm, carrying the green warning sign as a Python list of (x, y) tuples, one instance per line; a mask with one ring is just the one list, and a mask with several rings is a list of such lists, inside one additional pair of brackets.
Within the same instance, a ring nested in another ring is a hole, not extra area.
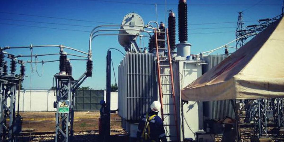
[[(70, 142), (73, 137), (74, 120), (74, 94), (76, 89), (87, 78), (85, 72), (79, 80), (74, 80), (72, 76), (55, 75), (56, 79), (56, 125), (55, 142)], [(59, 113), (59, 102), (69, 101), (69, 113)]]

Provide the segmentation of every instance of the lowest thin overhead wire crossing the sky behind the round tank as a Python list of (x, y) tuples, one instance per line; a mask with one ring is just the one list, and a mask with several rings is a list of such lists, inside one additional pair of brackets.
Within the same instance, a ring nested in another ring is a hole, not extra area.
[[(49, 28), (49, 27), (41, 27), (41, 26), (30, 26), (30, 25), (20, 25), (20, 24), (9, 24), (9, 23), (1, 23), (4, 25), (12, 25), (12, 26), (24, 26), (24, 27), (32, 27), (32, 28), (46, 28), (46, 29), (54, 29), (54, 30), (66, 30), (66, 31), (75, 31), (75, 32), (90, 32), (90, 31), (83, 31), (83, 30), (73, 30), (73, 29), (63, 29), (63, 28)], [(228, 31), (228, 32), (234, 32), (234, 31)], [(228, 32), (206, 32), (206, 33), (191, 33), (189, 35), (195, 35), (195, 34), (215, 34), (215, 33), (228, 33)], [(101, 32), (103, 33), (103, 32)], [(109, 34), (109, 33), (105, 33)]]

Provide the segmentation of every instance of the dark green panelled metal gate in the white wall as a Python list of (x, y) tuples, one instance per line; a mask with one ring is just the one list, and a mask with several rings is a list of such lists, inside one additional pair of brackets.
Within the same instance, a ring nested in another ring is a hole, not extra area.
[(74, 110), (100, 110), (100, 101), (104, 97), (104, 90), (77, 90)]

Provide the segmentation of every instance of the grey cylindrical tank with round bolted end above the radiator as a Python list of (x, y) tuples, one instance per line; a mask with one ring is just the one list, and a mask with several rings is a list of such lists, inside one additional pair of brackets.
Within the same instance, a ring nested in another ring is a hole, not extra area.
[[(129, 25), (129, 26), (121, 26), (119, 34), (139, 34), (140, 30), (144, 27), (144, 21), (140, 15), (132, 12), (128, 13), (123, 17), (121, 25)], [(133, 25), (133, 26), (132, 26)], [(125, 51), (129, 51), (130, 48), (130, 41), (135, 40), (137, 36), (131, 35), (118, 35), (118, 42), (119, 44), (124, 47)]]

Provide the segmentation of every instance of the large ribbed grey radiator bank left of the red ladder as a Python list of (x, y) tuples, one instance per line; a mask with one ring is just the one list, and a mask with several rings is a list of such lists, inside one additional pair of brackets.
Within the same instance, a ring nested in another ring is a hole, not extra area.
[(127, 121), (138, 121), (149, 110), (152, 62), (151, 53), (126, 53), (118, 66), (118, 115)]

